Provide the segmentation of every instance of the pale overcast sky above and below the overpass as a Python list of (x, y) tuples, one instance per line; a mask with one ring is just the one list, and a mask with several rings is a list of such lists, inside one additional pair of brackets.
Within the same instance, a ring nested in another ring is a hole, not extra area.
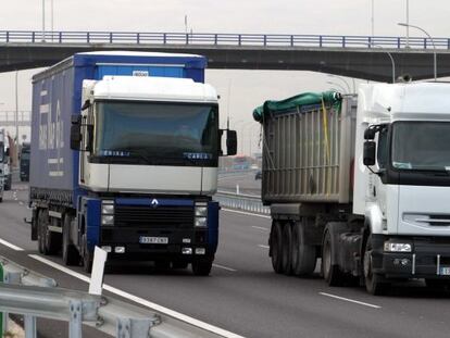
[[(410, 24), (434, 37), (450, 37), (448, 0), (0, 0), (0, 30), (41, 30), (42, 2), (48, 30), (184, 33), (187, 17), (187, 29), (193, 33), (363, 36), (371, 35), (372, 28), (375, 36), (405, 36), (405, 28), (397, 23), (407, 21), (409, 3)], [(423, 35), (411, 29), (410, 36)], [(18, 110), (30, 110), (30, 78), (38, 71), (18, 72)], [(0, 74), (0, 112), (15, 109), (14, 78), (14, 73)], [(330, 78), (323, 73), (207, 71), (207, 82), (221, 95), (221, 124), (225, 126), (229, 114), (243, 153), (259, 150), (258, 124), (251, 117), (257, 105), (303, 91), (346, 88), (346, 80), (351, 86), (349, 78)], [(29, 139), (26, 129), (20, 135)]]

